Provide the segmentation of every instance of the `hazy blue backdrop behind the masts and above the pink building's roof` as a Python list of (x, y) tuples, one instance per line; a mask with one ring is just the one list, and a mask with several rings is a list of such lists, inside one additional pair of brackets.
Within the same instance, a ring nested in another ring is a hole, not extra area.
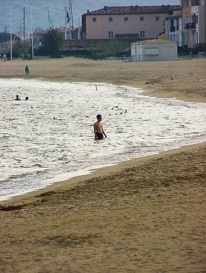
[[(31, 33), (31, 4), (33, 29), (41, 27), (49, 28), (48, 9), (54, 28), (64, 25), (64, 7), (69, 7), (66, 0), (0, 0), (0, 32), (4, 31), (5, 26), (10, 30), (10, 3), (12, 16), (12, 33), (19, 31), (23, 25), (23, 7), (25, 7), (25, 29)], [(130, 6), (130, 5), (179, 5), (179, 0), (161, 1), (161, 0), (72, 0), (73, 23), (78, 26), (78, 18), (90, 11), (108, 6)]]

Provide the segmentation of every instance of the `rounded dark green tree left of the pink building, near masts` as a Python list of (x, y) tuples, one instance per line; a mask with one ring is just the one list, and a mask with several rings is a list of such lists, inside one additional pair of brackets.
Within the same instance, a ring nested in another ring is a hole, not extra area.
[(57, 29), (51, 29), (43, 37), (43, 47), (52, 57), (55, 57), (59, 54), (64, 41), (64, 36), (61, 32), (58, 32)]

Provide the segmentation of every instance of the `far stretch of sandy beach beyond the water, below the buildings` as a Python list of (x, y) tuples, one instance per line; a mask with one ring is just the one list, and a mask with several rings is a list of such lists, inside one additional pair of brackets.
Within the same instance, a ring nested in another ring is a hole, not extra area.
[[(28, 78), (24, 76), (26, 64), (31, 70)], [(4, 70), (0, 72), (0, 78), (104, 82), (142, 88), (147, 96), (206, 103), (205, 66), (205, 59), (144, 63), (93, 61), (74, 57), (14, 60), (5, 63)], [(45, 69), (42, 70), (42, 67)], [(170, 80), (171, 77), (175, 77), (174, 80)], [(150, 79), (151, 84), (145, 85), (148, 79)]]

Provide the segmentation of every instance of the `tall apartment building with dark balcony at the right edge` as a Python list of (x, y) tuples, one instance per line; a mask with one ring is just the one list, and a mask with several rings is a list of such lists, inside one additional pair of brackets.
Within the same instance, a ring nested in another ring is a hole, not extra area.
[(180, 0), (182, 44), (189, 48), (206, 42), (206, 0)]

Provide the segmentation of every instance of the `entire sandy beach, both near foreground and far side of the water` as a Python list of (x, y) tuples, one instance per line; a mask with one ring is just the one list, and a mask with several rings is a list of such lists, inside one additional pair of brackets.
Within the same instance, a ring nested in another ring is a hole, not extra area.
[[(28, 79), (206, 102), (205, 59), (7, 61), (0, 78), (26, 78), (26, 65)], [(184, 146), (1, 202), (0, 272), (206, 272), (205, 152)]]

